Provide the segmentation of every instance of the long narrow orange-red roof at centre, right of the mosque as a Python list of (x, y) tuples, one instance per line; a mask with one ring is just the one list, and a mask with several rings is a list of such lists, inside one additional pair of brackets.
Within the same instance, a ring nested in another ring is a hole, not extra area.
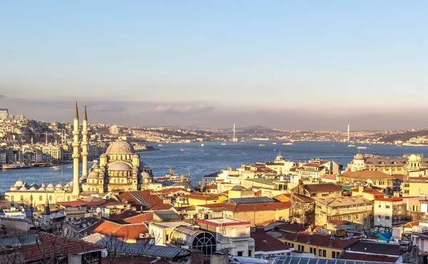
[(277, 203), (246, 203), (246, 204), (231, 204), (231, 203), (213, 203), (208, 205), (198, 205), (205, 208), (224, 208), (229, 212), (253, 212), (260, 210), (284, 210), (291, 207), (291, 202)]

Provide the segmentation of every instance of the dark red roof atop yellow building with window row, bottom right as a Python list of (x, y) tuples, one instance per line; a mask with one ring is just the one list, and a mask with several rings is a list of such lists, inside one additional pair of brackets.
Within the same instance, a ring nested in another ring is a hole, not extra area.
[(300, 233), (282, 233), (282, 238), (285, 240), (290, 240), (300, 242), (300, 243), (308, 243), (309, 245), (319, 245), (322, 247), (328, 247), (329, 243), (331, 241), (332, 248), (346, 248), (349, 245), (354, 244), (360, 238), (336, 238), (332, 237), (330, 238), (330, 235), (321, 235), (317, 233), (312, 233), (312, 235), (309, 232), (300, 232)]

